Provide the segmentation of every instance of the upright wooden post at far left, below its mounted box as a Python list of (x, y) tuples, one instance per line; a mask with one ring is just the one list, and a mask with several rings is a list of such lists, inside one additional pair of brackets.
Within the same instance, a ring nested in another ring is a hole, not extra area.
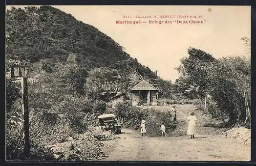
[(28, 78), (22, 77), (22, 108), (24, 116), (24, 153), (26, 159), (30, 156), (29, 144), (29, 103), (28, 103)]

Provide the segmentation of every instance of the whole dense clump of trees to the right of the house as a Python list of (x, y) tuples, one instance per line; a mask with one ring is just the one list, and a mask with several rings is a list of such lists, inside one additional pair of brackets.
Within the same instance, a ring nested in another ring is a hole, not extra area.
[(188, 54), (177, 68), (181, 74), (177, 83), (183, 85), (186, 92), (204, 101), (203, 110), (207, 110), (213, 117), (228, 115), (230, 125), (249, 127), (250, 58), (215, 59), (196, 48), (189, 48)]

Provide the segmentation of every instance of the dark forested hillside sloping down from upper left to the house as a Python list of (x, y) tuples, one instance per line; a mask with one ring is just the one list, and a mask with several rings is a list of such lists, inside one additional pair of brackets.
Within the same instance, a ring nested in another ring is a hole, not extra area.
[(7, 59), (41, 59), (65, 62), (76, 54), (80, 67), (87, 70), (110, 67), (119, 71), (133, 69), (142, 76), (155, 77), (122, 47), (94, 26), (76, 20), (50, 6), (12, 8), (6, 12)]

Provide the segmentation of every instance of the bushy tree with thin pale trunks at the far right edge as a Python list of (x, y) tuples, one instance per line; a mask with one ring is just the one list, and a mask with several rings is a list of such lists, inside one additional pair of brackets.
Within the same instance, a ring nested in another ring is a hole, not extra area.
[(250, 61), (245, 57), (222, 58), (216, 74), (219, 80), (212, 81), (216, 85), (212, 96), (222, 109), (229, 108), (226, 111), (232, 124), (248, 123), (251, 112)]

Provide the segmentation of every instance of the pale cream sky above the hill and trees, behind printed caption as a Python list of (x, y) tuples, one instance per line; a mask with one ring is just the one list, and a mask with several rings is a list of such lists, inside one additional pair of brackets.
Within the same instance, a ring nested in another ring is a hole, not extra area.
[[(187, 57), (189, 47), (202, 49), (212, 54), (214, 58), (241, 56), (246, 54), (246, 47), (241, 37), (251, 35), (250, 6), (52, 7), (95, 26), (124, 47), (124, 51), (131, 57), (137, 58), (139, 63), (148, 66), (152, 71), (157, 70), (160, 77), (173, 82), (178, 78), (178, 71), (174, 68), (181, 65), (180, 59)], [(10, 9), (10, 6), (7, 6), (7, 9)], [(160, 18), (161, 15), (173, 18)], [(127, 18), (129, 16), (131, 18)], [(138, 16), (152, 18), (138, 18)], [(177, 18), (177, 16), (193, 16), (193, 18)], [(118, 20), (141, 21), (141, 23), (120, 24), (116, 23)], [(190, 20), (203, 23), (190, 23)], [(150, 21), (172, 21), (172, 23), (158, 24)]]

